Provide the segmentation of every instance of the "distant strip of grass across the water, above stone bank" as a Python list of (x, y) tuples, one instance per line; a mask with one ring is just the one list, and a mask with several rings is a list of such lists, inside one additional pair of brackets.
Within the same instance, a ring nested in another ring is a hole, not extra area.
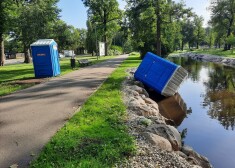
[(180, 54), (184, 52), (193, 52), (198, 54), (211, 54), (223, 57), (235, 58), (235, 52), (232, 50), (224, 51), (223, 49), (195, 49), (195, 50), (184, 50), (184, 51), (175, 51), (172, 54)]

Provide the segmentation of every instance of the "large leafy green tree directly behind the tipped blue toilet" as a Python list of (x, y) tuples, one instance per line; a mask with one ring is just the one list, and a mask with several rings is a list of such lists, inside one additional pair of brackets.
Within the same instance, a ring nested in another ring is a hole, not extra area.
[(127, 2), (130, 29), (136, 41), (134, 44), (142, 56), (146, 51), (166, 55), (175, 48), (175, 41), (179, 44), (181, 37), (176, 34), (180, 27), (176, 22), (190, 13), (190, 9), (185, 9), (183, 3), (171, 0)]

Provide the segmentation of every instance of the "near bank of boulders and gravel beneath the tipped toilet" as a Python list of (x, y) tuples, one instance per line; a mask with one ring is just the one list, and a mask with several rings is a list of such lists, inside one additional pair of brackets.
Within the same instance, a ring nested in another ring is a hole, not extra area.
[(128, 110), (127, 126), (137, 142), (137, 154), (117, 167), (135, 168), (210, 168), (207, 158), (189, 146), (182, 146), (178, 130), (166, 123), (158, 104), (149, 98), (143, 84), (128, 70), (123, 83), (124, 101)]

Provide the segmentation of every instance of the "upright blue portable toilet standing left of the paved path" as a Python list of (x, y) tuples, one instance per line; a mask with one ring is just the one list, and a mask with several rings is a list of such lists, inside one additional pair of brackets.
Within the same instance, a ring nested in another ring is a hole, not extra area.
[(40, 39), (30, 46), (36, 78), (60, 75), (58, 47), (53, 39)]

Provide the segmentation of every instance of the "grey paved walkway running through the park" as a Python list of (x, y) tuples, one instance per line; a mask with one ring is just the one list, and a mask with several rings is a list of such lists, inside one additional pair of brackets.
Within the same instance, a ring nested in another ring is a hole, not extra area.
[(66, 120), (127, 55), (0, 98), (0, 168), (28, 167)]

